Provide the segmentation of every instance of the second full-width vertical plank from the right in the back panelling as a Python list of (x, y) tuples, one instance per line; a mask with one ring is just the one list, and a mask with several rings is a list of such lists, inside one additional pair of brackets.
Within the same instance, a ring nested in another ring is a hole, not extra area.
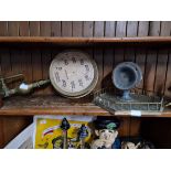
[[(160, 35), (160, 22), (152, 21), (149, 25), (149, 35), (158, 36)], [(145, 71), (145, 89), (154, 90), (154, 79), (156, 79), (156, 65), (157, 65), (157, 50), (148, 50), (147, 61), (146, 61), (146, 71)]]

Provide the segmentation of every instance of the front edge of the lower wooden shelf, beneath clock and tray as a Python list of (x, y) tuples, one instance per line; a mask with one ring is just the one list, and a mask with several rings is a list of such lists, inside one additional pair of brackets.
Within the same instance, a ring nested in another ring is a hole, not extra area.
[(141, 111), (141, 116), (132, 116), (130, 111), (116, 111), (115, 115), (98, 106), (81, 107), (57, 107), (57, 108), (13, 108), (0, 109), (0, 116), (34, 116), (34, 115), (85, 115), (85, 116), (118, 116), (118, 117), (171, 117), (171, 111), (148, 113)]

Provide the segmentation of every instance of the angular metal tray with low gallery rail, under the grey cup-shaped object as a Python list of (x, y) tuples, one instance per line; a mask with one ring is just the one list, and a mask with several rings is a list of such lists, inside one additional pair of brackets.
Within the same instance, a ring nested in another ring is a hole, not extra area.
[(116, 89), (101, 89), (94, 93), (94, 103), (111, 114), (118, 110), (163, 110), (163, 98), (156, 95), (149, 96), (136, 93), (133, 89), (130, 93), (131, 100), (124, 100), (120, 97), (120, 93)]

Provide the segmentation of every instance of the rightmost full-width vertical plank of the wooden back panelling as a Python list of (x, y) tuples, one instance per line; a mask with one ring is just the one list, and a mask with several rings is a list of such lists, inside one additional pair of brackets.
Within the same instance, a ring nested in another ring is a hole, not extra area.
[[(161, 36), (170, 35), (171, 22), (161, 22)], [(164, 93), (165, 75), (167, 75), (167, 62), (168, 62), (168, 50), (159, 50), (158, 63), (156, 72), (154, 92), (162, 94)]]

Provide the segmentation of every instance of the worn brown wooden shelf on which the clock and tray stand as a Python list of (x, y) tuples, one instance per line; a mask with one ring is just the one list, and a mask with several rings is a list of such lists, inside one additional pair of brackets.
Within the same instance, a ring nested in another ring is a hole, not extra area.
[[(0, 109), (2, 116), (34, 116), (34, 115), (90, 115), (111, 116), (108, 111), (85, 103), (81, 99), (68, 99), (57, 96), (11, 97), (3, 100)], [(130, 111), (116, 111), (116, 116), (131, 116)], [(141, 113), (141, 117), (171, 117), (171, 111)]]

